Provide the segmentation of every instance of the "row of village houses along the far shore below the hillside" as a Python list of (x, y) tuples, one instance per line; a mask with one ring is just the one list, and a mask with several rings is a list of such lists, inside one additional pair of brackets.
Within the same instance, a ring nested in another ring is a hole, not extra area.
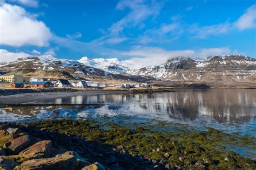
[(87, 80), (66, 80), (50, 79), (39, 77), (24, 77), (17, 74), (0, 75), (0, 83), (10, 84), (11, 88), (104, 88), (104, 87), (121, 87), (121, 88), (139, 88), (151, 87), (147, 83), (99, 83)]

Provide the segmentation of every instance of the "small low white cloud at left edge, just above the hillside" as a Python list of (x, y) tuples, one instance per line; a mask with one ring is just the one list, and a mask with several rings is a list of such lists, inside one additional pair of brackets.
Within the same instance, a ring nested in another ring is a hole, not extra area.
[(6, 49), (0, 49), (0, 62), (11, 62), (17, 60), (18, 58), (28, 56), (30, 55), (23, 52), (12, 53)]

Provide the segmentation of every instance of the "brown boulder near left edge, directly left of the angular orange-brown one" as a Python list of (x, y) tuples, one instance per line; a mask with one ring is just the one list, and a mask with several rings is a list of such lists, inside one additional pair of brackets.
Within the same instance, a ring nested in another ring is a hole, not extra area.
[(8, 143), (5, 143), (3, 147), (6, 149), (6, 152), (8, 155), (12, 155), (12, 154), (18, 154), (19, 152), (21, 152), (26, 146), (29, 145), (29, 143), (30, 143), (29, 136), (24, 135), (14, 140), (11, 140)]

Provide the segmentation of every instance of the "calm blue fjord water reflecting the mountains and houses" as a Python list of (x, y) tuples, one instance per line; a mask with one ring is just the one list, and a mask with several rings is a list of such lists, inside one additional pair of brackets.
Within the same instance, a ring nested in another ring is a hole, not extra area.
[(104, 103), (97, 107), (54, 106), (2, 108), (0, 121), (129, 117), (132, 122), (149, 120), (190, 124), (198, 129), (211, 126), (226, 132), (253, 134), (256, 129), (256, 90), (177, 90), (153, 94), (78, 95), (35, 103)]

